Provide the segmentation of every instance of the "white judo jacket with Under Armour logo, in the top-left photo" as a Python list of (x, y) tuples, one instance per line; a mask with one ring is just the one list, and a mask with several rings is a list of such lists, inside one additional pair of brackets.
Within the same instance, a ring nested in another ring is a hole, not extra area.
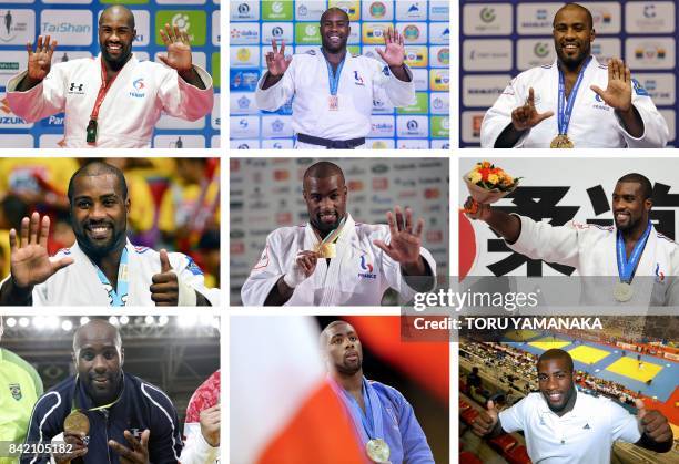
[(150, 147), (162, 113), (195, 121), (212, 111), (212, 78), (194, 68), (205, 90), (184, 82), (164, 64), (139, 61), (132, 54), (99, 111), (97, 145), (87, 143), (85, 130), (101, 87), (101, 55), (55, 63), (40, 84), (17, 92), (24, 71), (7, 84), (7, 100), (12, 112), (29, 122), (65, 112), (64, 143), (69, 148)]

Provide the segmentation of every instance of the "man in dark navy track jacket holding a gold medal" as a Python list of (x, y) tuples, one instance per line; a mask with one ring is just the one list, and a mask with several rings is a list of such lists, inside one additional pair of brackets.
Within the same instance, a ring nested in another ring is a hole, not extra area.
[[(84, 464), (176, 463), (182, 440), (174, 405), (156, 386), (123, 372), (118, 329), (101, 319), (81, 326), (72, 355), (78, 374), (38, 400), (27, 442), (61, 435), (55, 442), (71, 448), (52, 455), (57, 464), (79, 457)], [(49, 462), (49, 454), (21, 456), (22, 464)]]

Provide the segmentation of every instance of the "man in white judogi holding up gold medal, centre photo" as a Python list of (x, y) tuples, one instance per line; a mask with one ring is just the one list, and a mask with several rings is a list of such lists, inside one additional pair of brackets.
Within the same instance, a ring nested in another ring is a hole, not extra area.
[(245, 306), (378, 306), (387, 288), (404, 301), (434, 287), (436, 262), (422, 248), (424, 219), (409, 208), (387, 213), (388, 226), (355, 223), (346, 213), (347, 188), (333, 163), (304, 174), (310, 221), (282, 227), (241, 289)]

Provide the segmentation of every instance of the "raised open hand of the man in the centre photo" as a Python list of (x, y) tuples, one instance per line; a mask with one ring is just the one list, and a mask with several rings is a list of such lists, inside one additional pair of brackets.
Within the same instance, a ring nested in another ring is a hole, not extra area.
[(419, 264), (424, 219), (419, 218), (415, 230), (413, 230), (413, 210), (411, 208), (405, 209), (404, 221), (401, 206), (396, 206), (394, 213), (387, 212), (387, 223), (392, 236), (389, 245), (386, 245), (383, 240), (375, 240), (375, 246), (401, 266), (417, 266)]

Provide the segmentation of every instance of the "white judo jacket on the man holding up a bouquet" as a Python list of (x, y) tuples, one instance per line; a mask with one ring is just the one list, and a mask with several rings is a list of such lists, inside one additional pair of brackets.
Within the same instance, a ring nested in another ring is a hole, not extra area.
[[(521, 220), (521, 233), (516, 243), (507, 244), (513, 250), (531, 259), (575, 267), (582, 277), (618, 276), (615, 227), (577, 223), (555, 227), (546, 221), (536, 223), (516, 216)], [(653, 227), (635, 272), (635, 295), (628, 305), (678, 306), (677, 276), (679, 246)], [(582, 301), (588, 305), (614, 303), (617, 280), (582, 279)], [(605, 287), (606, 283), (609, 288)]]

